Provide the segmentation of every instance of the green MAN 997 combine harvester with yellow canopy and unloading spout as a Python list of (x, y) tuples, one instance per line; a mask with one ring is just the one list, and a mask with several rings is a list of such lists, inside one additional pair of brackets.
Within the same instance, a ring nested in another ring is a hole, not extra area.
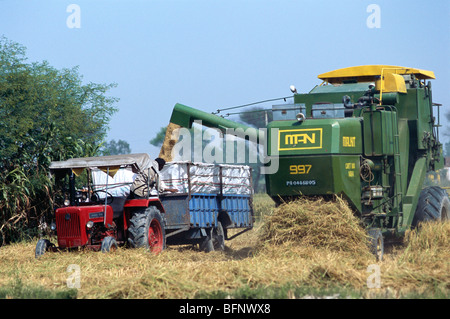
[[(267, 125), (267, 194), (277, 203), (299, 196), (343, 196), (382, 258), (385, 240), (427, 220), (448, 219), (446, 191), (424, 188), (426, 174), (443, 167), (439, 104), (432, 101), (434, 73), (386, 65), (356, 66), (318, 76), (309, 93), (274, 106)], [(176, 104), (171, 123), (196, 120), (223, 130), (247, 126)], [(271, 133), (275, 132), (275, 133)]]

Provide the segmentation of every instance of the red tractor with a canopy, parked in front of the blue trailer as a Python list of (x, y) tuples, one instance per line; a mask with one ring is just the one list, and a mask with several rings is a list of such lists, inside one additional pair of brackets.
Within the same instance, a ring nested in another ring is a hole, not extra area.
[[(78, 247), (108, 252), (124, 244), (161, 252), (166, 245), (165, 211), (158, 194), (147, 198), (130, 197), (135, 177), (152, 176), (148, 172), (152, 164), (147, 154), (52, 162), (50, 172), (56, 181), (69, 187), (63, 188), (60, 197), (64, 204), (56, 209), (55, 220), (51, 223), (58, 244), (40, 239), (36, 257), (46, 251)], [(88, 185), (87, 189), (77, 191), (80, 188), (77, 176), (81, 183)], [(152, 183), (154, 181), (148, 181), (149, 189)]]

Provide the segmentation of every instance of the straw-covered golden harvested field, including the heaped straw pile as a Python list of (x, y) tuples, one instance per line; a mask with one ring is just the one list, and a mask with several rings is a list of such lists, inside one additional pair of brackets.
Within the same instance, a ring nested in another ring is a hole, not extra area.
[(450, 297), (449, 222), (410, 232), (376, 262), (340, 200), (273, 211), (267, 196), (256, 195), (255, 228), (226, 242), (224, 252), (169, 246), (155, 256), (119, 248), (47, 253), (37, 260), (37, 239), (7, 245), (0, 248), (0, 298)]

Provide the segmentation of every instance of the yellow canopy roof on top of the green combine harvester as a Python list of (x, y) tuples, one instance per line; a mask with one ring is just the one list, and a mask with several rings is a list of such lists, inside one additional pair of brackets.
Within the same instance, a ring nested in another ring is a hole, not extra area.
[(359, 81), (373, 81), (386, 73), (414, 74), (418, 79), (435, 79), (433, 71), (394, 65), (353, 66), (320, 74), (318, 78), (328, 83), (341, 83), (348, 78), (356, 78)]

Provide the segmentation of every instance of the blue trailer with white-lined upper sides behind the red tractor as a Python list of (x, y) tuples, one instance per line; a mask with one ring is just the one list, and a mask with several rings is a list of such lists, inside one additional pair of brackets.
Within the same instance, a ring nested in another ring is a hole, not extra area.
[[(169, 162), (161, 180), (177, 190), (159, 196), (166, 210), (168, 244), (199, 244), (205, 251), (223, 250), (225, 240), (253, 228), (249, 166)], [(232, 229), (237, 232), (229, 236)]]

